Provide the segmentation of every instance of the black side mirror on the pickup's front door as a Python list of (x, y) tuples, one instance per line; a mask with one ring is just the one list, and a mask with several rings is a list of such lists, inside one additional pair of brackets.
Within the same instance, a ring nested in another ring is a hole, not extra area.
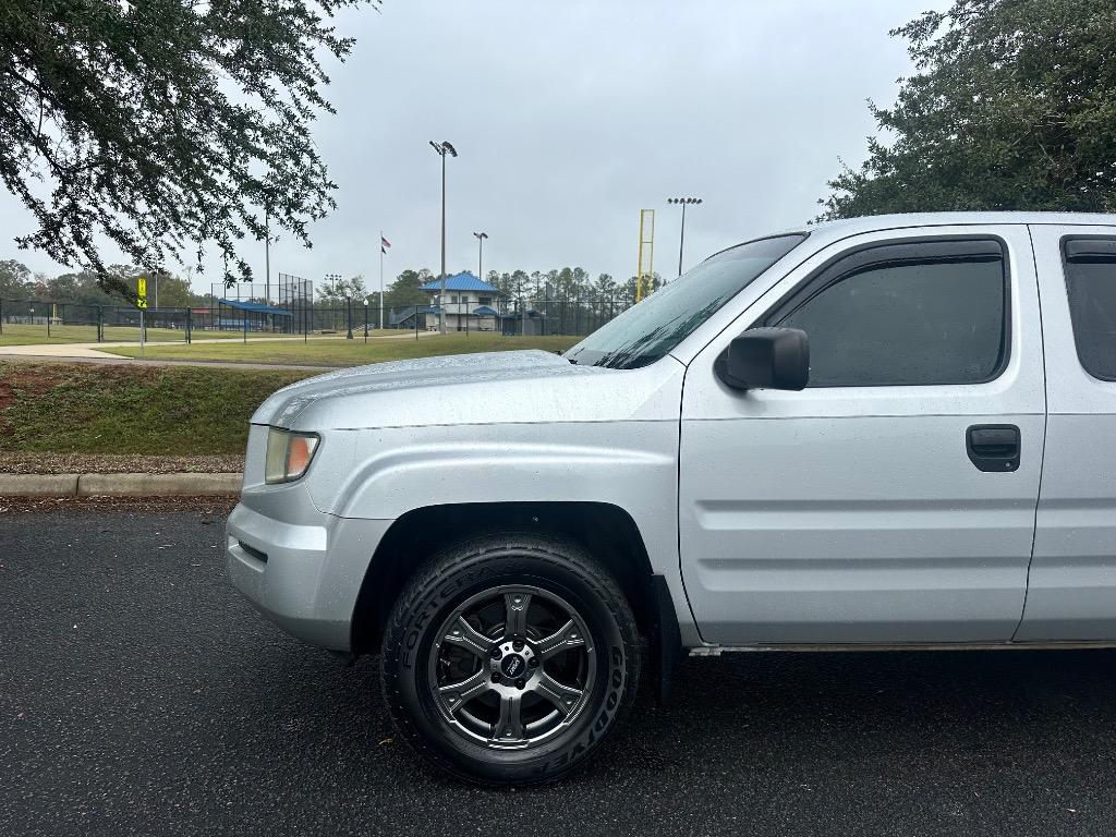
[(798, 328), (749, 328), (721, 353), (714, 369), (733, 389), (805, 389), (810, 341)]

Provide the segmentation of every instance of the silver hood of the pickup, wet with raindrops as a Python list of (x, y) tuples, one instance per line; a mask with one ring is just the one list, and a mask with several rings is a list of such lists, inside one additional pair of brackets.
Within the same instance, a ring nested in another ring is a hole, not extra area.
[(540, 349), (394, 360), (283, 387), (252, 423), (321, 431), (677, 419), (683, 372), (671, 357), (619, 371), (576, 366)]

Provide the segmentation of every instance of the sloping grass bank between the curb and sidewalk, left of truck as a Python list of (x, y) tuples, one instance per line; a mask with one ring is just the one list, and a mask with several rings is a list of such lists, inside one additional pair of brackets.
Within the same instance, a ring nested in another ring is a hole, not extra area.
[(0, 451), (243, 453), (260, 402), (310, 374), (0, 360)]

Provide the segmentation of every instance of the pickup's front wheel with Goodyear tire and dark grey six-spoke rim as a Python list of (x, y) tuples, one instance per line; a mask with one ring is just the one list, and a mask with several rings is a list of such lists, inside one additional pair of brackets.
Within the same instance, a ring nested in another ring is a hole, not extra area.
[(436, 768), (480, 785), (543, 783), (620, 723), (642, 656), (619, 585), (581, 547), (491, 535), (436, 555), (400, 595), (384, 701)]

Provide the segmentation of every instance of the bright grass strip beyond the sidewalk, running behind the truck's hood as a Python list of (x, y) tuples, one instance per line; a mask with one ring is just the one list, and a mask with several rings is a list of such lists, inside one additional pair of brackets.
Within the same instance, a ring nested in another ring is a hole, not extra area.
[[(307, 364), (321, 366), (359, 366), (382, 360), (403, 360), (412, 357), (459, 355), (469, 352), (508, 352), (511, 349), (541, 348), (560, 352), (577, 343), (579, 337), (504, 337), (491, 333), (448, 334), (423, 336), (415, 340), (406, 337), (371, 338), (355, 340), (314, 340), (193, 344), (191, 346), (148, 347), (148, 360), (223, 360), (268, 364)], [(105, 349), (114, 355), (140, 357), (138, 346)]]

